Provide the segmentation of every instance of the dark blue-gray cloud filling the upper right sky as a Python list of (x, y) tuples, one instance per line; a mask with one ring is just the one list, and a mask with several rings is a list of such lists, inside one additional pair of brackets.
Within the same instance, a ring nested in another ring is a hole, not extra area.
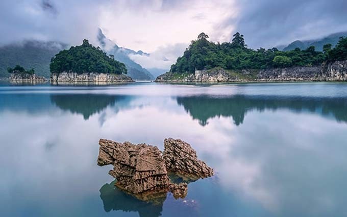
[(345, 0), (243, 0), (233, 23), (251, 47), (270, 47), (347, 30)]

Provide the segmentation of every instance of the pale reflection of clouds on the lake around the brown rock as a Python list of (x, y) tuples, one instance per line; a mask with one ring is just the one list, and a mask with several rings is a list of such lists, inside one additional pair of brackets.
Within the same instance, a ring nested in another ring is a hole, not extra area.
[[(136, 97), (88, 120), (55, 109), (55, 115), (0, 112), (6, 123), (0, 130), (4, 210), (27, 203), (68, 210), (82, 206), (86, 198), (98, 201), (98, 190), (111, 181), (109, 168), (96, 165), (99, 138), (146, 142), (163, 150), (163, 139), (174, 137), (191, 143), (199, 158), (215, 168), (221, 190), (256, 201), (275, 215), (334, 216), (335, 210), (345, 211), (346, 125), (333, 119), (265, 109), (250, 111), (238, 127), (223, 116), (201, 126), (169, 97)], [(228, 199), (219, 206), (228, 210)], [(213, 198), (205, 202), (201, 207), (217, 203)], [(101, 204), (91, 213), (102, 211)]]

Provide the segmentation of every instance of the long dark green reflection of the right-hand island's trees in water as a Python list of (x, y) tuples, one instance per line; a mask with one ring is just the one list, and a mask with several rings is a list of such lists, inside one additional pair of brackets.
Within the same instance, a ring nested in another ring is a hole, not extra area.
[(208, 96), (179, 97), (179, 105), (198, 119), (203, 126), (209, 118), (215, 116), (232, 116), (235, 125), (243, 123), (247, 111), (265, 109), (289, 109), (294, 112), (309, 111), (322, 116), (333, 116), (338, 122), (347, 122), (347, 98), (304, 98), (274, 96), (235, 95), (228, 98)]

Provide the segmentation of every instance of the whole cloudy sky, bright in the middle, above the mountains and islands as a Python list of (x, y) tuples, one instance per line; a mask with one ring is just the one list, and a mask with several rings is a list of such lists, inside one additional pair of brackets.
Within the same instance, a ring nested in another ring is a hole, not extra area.
[(249, 47), (270, 48), (347, 31), (346, 11), (345, 0), (2, 0), (0, 45), (97, 43), (101, 28), (117, 45), (152, 54), (137, 62), (163, 68), (201, 32), (224, 42), (238, 31)]

